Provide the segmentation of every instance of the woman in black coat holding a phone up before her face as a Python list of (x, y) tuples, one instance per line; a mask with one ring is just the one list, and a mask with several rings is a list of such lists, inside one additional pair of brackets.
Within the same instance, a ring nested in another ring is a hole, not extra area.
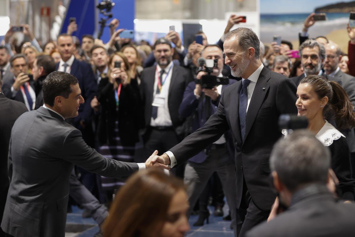
[[(115, 160), (133, 162), (135, 143), (138, 141), (138, 95), (130, 85), (130, 67), (127, 58), (117, 52), (109, 59), (108, 76), (101, 78), (97, 100), (101, 105), (97, 136), (99, 153)], [(102, 187), (108, 200), (122, 184), (113, 178), (102, 178)]]

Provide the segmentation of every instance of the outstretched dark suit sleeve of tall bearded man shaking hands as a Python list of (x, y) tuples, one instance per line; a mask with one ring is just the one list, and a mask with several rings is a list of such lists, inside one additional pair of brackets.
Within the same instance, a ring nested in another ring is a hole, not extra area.
[[(181, 165), (192, 156), (197, 155), (197, 153), (208, 145), (217, 141), (229, 129), (224, 113), (224, 95), (225, 90), (222, 93), (217, 111), (209, 117), (203, 127), (197, 129), (178, 145), (170, 149), (178, 165)], [(228, 100), (228, 96), (226, 100)]]

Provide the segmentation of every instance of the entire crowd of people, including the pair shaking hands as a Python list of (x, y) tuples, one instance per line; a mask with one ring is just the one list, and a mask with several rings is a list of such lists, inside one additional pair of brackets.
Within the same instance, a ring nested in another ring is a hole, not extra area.
[[(190, 215), (208, 224), (212, 203), (235, 236), (316, 236), (327, 215), (343, 222), (320, 236), (354, 235), (355, 28), (342, 52), (308, 37), (313, 15), (298, 56), (287, 40), (231, 31), (236, 15), (218, 42), (199, 31), (202, 44), (188, 46), (175, 31), (152, 45), (120, 38), (117, 19), (107, 43), (73, 37), (75, 21), (43, 47), (28, 25), (21, 44), (10, 28), (0, 46), (0, 234), (62, 236), (78, 205), (104, 236), (183, 236)], [(207, 74), (228, 83), (203, 86)], [(282, 114), (306, 117), (308, 131), (279, 128)], [(152, 169), (125, 183), (151, 166), (183, 182)]]

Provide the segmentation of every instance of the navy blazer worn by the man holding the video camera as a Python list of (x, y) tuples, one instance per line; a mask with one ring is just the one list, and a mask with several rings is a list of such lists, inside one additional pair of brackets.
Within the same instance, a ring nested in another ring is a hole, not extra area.
[[(222, 86), (222, 92), (223, 90), (230, 86), (231, 84), (236, 83), (236, 80), (229, 79), (229, 84), (228, 85), (223, 85)], [(184, 92), (184, 99), (182, 99), (181, 105), (179, 107), (179, 114), (181, 117), (189, 117), (192, 115), (194, 112), (195, 115), (193, 116), (193, 121), (192, 121), (192, 132), (195, 132), (198, 128), (202, 127), (204, 123), (206, 123), (206, 109), (205, 109), (205, 101), (206, 98), (204, 98), (203, 93), (201, 94), (200, 99), (196, 99), (196, 96), (194, 94), (194, 90), (196, 88), (196, 83), (195, 82), (190, 82)], [(217, 106), (219, 103), (221, 95), (219, 95), (217, 101), (212, 101), (211, 100), (211, 114), (213, 115), (217, 111)], [(224, 133), (225, 139), (226, 139), (226, 144), (227, 144), (227, 149), (230, 155), (231, 159), (234, 159), (234, 144), (233, 144), (233, 138), (230, 133), (230, 129)], [(196, 162), (196, 163), (202, 163), (205, 161), (207, 158), (206, 153), (204, 151), (201, 151), (197, 155), (193, 156), (189, 161)]]

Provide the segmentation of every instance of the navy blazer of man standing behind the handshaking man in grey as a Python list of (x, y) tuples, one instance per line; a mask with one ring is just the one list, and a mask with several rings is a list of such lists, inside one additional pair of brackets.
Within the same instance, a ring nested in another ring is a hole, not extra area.
[[(55, 65), (55, 70), (58, 71), (59, 62)], [(92, 114), (90, 106), (91, 100), (97, 92), (97, 83), (94, 72), (90, 64), (74, 59), (71, 66), (70, 74), (78, 79), (81, 95), (84, 98), (84, 104), (79, 107), (79, 115), (73, 119), (74, 126), (77, 126), (81, 120), (89, 121)]]

